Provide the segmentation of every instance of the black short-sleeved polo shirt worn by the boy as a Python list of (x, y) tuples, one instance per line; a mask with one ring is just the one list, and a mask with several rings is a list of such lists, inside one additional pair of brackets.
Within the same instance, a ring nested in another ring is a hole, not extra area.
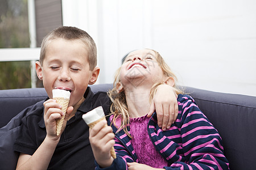
[[(89, 127), (82, 120), (82, 114), (102, 106), (109, 113), (110, 99), (106, 92), (93, 94), (87, 88), (85, 101), (75, 116), (68, 122), (49, 163), (48, 169), (94, 169), (94, 156), (89, 143)], [(48, 100), (48, 99), (46, 99)], [(22, 120), (22, 133), (14, 143), (14, 151), (32, 155), (46, 137), (43, 118), (43, 103), (36, 104)]]

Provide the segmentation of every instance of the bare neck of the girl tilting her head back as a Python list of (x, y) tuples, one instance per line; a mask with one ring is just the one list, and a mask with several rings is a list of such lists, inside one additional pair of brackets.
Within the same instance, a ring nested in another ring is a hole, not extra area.
[(150, 109), (150, 88), (140, 86), (125, 91), (126, 102), (131, 118), (145, 116)]

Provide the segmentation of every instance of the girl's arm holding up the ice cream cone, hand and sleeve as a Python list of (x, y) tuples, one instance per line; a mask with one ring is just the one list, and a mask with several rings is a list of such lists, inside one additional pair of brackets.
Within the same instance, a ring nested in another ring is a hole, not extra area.
[[(110, 120), (109, 124), (110, 124)], [(96, 169), (128, 169), (127, 162), (134, 162), (123, 143), (115, 137), (110, 126), (105, 126), (106, 121), (98, 122), (89, 129), (89, 140), (93, 155), (96, 160)], [(113, 126), (113, 125), (112, 125)], [(110, 156), (110, 149), (114, 146), (117, 158)]]

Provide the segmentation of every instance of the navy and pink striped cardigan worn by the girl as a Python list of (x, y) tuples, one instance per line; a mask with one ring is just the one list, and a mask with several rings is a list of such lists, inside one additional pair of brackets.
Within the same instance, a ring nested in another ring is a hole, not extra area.
[[(156, 151), (168, 162), (165, 169), (229, 169), (218, 131), (200, 111), (191, 96), (177, 97), (179, 113), (171, 128), (163, 131), (157, 125), (156, 114), (150, 118), (147, 132)], [(110, 117), (110, 121), (113, 117)], [(119, 120), (120, 121), (120, 120)], [(118, 122), (116, 124), (118, 126)], [(127, 162), (138, 162), (131, 138), (112, 124), (115, 133), (117, 159), (109, 168), (127, 169)], [(130, 132), (130, 127), (127, 127)], [(145, 152), (147, 152), (145, 150)], [(155, 162), (158, 160), (156, 159)], [(96, 169), (99, 167), (97, 166)]]

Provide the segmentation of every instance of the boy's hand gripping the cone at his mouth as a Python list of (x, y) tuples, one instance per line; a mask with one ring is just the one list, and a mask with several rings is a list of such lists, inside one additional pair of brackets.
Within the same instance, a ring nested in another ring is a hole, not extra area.
[[(67, 124), (68, 118), (73, 111), (73, 107), (68, 107), (67, 113), (65, 114), (63, 128), (61, 133), (64, 131)], [(49, 99), (44, 102), (44, 124), (46, 124), (46, 132), (48, 137), (59, 139), (56, 135), (56, 120), (60, 119), (64, 113), (61, 111), (61, 105), (57, 104), (57, 101), (54, 99)]]

